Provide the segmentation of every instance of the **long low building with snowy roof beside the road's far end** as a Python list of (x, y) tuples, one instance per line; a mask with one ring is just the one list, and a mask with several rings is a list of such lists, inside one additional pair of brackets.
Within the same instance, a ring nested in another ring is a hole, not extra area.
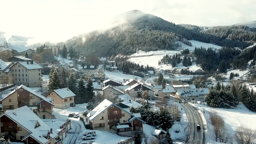
[(205, 101), (205, 95), (209, 93), (208, 88), (178, 89), (175, 97), (193, 101)]

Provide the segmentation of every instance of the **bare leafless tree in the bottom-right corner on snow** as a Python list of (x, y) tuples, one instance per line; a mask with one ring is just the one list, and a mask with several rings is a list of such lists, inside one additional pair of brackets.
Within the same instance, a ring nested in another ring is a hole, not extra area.
[(256, 131), (245, 126), (237, 127), (235, 140), (238, 144), (255, 144)]

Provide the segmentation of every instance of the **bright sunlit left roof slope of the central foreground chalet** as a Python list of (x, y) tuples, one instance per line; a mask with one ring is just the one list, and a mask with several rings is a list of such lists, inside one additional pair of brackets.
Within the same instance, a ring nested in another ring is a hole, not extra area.
[(89, 112), (89, 114), (87, 114), (87, 117), (90, 118), (90, 121), (93, 120), (97, 115), (105, 111), (105, 109), (107, 109), (112, 104), (113, 103), (111, 101), (105, 99), (99, 105), (97, 105), (96, 108)]

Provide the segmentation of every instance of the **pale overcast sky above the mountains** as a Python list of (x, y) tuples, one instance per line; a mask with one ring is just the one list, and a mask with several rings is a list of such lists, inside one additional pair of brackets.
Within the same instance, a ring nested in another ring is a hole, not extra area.
[(256, 20), (256, 0), (0, 0), (0, 32), (61, 42), (107, 28), (106, 21), (130, 10), (197, 26)]

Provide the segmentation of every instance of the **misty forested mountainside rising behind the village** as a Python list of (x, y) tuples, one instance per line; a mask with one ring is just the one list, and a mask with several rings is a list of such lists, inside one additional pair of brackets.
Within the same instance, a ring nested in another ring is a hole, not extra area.
[(73, 47), (85, 56), (90, 53), (96, 56), (115, 56), (130, 55), (136, 49), (177, 49), (177, 41), (190, 45), (187, 40), (192, 39), (240, 49), (256, 42), (256, 29), (248, 26), (217, 26), (205, 30), (189, 24), (176, 25), (139, 10), (118, 15), (115, 23), (124, 20), (125, 23), (112, 29), (75, 36), (58, 45), (61, 47), (65, 44), (68, 49)]

